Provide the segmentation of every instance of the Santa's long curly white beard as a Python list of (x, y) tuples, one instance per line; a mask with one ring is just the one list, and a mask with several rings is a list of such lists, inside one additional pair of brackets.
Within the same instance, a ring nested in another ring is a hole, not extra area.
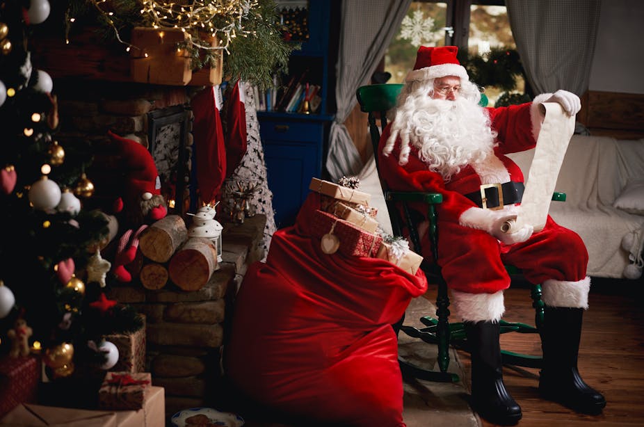
[(492, 154), (496, 132), (487, 112), (469, 99), (432, 99), (411, 95), (413, 108), (396, 111), (400, 136), (408, 136), (429, 170), (449, 179), (461, 168)]

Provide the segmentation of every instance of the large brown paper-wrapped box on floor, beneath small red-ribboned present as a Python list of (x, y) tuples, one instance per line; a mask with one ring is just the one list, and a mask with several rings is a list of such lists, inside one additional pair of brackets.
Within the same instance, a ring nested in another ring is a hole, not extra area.
[(166, 426), (165, 389), (150, 387), (140, 410), (84, 410), (22, 403), (0, 419), (0, 426), (163, 427)]

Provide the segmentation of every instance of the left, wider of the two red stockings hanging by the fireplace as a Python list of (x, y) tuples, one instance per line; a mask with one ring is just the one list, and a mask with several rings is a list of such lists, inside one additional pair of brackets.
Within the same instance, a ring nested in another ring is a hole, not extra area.
[(195, 170), (204, 202), (216, 199), (226, 175), (226, 147), (219, 115), (221, 104), (219, 86), (207, 87), (191, 100)]

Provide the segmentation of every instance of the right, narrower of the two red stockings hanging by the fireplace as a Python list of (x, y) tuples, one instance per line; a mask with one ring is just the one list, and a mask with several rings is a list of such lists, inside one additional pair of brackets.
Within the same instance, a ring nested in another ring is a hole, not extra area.
[(226, 177), (236, 170), (246, 154), (246, 108), (240, 81), (232, 87), (226, 111)]

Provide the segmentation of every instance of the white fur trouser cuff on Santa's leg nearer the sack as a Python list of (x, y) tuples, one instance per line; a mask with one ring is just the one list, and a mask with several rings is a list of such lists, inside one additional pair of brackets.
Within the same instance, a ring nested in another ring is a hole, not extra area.
[(506, 311), (503, 291), (496, 293), (451, 291), (451, 296), (454, 312), (466, 322), (498, 322)]

